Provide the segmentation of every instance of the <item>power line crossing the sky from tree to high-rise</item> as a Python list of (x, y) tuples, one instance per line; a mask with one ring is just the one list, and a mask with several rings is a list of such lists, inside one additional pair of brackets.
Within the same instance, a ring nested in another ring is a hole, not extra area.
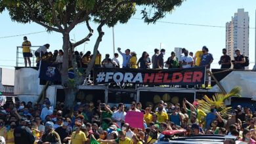
[[(142, 20), (141, 18), (131, 18), (134, 20)], [(226, 28), (226, 26), (213, 26), (213, 25), (205, 25), (205, 24), (189, 24), (189, 23), (179, 23), (179, 22), (165, 22), (157, 20), (156, 22), (165, 23), (165, 24), (177, 24), (177, 25), (185, 25), (185, 26), (202, 26), (202, 27), (219, 27), (219, 28)], [(255, 29), (255, 27), (237, 27), (237, 28), (245, 28), (245, 29)]]

